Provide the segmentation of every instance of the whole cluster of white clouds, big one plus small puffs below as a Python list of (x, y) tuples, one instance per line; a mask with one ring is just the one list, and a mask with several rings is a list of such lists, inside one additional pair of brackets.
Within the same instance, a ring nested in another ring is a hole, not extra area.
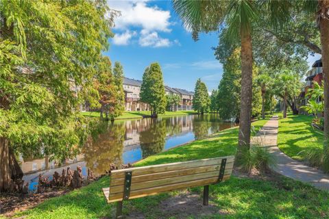
[[(109, 1), (111, 9), (119, 10), (121, 16), (114, 19), (114, 31), (125, 31), (113, 38), (117, 45), (127, 45), (133, 37), (138, 38), (141, 47), (170, 47), (173, 44), (180, 46), (176, 39), (171, 42), (168, 38), (162, 38), (160, 32), (170, 32), (173, 25), (169, 10), (162, 10), (157, 6), (147, 5), (147, 0), (141, 1)], [(131, 29), (135, 29), (132, 31)], [(136, 34), (136, 31), (140, 34)], [(135, 42), (135, 41), (134, 41)]]

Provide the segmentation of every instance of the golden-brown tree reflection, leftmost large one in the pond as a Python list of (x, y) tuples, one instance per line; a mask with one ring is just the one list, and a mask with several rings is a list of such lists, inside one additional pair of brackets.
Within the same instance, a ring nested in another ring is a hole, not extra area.
[(124, 123), (99, 123), (98, 135), (94, 133), (84, 146), (86, 166), (96, 174), (103, 174), (110, 169), (110, 164), (117, 166), (123, 163), (123, 142), (125, 140)]

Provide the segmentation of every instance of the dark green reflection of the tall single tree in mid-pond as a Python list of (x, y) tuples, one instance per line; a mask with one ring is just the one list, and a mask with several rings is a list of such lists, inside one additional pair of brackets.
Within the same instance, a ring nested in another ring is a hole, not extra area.
[(166, 138), (166, 121), (151, 118), (149, 128), (139, 134), (143, 158), (160, 153)]

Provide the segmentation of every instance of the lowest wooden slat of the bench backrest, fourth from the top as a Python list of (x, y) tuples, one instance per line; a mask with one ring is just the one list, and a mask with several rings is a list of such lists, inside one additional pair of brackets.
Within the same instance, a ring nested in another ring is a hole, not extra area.
[[(223, 180), (230, 179), (230, 175), (224, 175)], [(191, 187), (196, 187), (196, 186), (202, 186), (202, 185), (209, 185), (212, 183), (217, 183), (218, 177), (211, 177), (207, 179), (197, 179), (193, 181), (186, 181), (182, 183), (175, 183), (171, 185), (161, 185), (158, 187), (154, 188), (148, 188), (148, 189), (143, 189), (143, 190), (136, 190), (130, 192), (130, 197), (129, 199), (132, 198), (140, 198), (143, 196), (150, 196), (154, 194), (158, 194), (160, 192), (169, 192), (172, 190), (177, 190), (177, 189), (182, 189), (182, 188), (191, 188)], [(108, 191), (109, 188), (106, 188), (105, 191)], [(106, 195), (106, 194), (104, 194)], [(108, 195), (108, 203), (113, 203), (117, 201), (122, 201), (123, 200), (123, 193), (117, 193), (117, 194), (109, 194)]]

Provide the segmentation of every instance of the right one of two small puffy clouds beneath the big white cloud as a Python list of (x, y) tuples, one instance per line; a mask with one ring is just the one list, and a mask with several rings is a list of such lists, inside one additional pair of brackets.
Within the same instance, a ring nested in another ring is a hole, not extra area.
[(169, 47), (171, 45), (169, 39), (160, 38), (156, 31), (151, 33), (141, 31), (141, 37), (138, 42), (142, 47)]

